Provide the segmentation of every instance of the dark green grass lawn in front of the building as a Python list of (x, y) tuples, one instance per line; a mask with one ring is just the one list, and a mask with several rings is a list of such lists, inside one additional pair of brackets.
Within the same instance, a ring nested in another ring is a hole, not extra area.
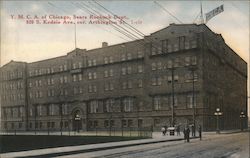
[(0, 135), (0, 153), (143, 139), (121, 136)]

